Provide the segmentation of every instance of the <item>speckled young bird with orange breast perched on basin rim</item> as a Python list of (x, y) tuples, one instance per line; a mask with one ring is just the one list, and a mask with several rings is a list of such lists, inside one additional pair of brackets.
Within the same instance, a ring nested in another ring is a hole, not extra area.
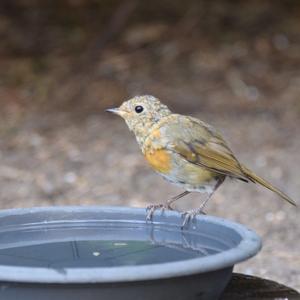
[(136, 96), (107, 111), (125, 120), (150, 166), (184, 189), (165, 204), (148, 206), (147, 219), (156, 209), (172, 209), (173, 202), (190, 192), (206, 193), (198, 209), (183, 213), (184, 226), (203, 213), (207, 201), (226, 177), (259, 183), (296, 205), (285, 193), (241, 164), (216, 129), (196, 118), (172, 113), (153, 96)]

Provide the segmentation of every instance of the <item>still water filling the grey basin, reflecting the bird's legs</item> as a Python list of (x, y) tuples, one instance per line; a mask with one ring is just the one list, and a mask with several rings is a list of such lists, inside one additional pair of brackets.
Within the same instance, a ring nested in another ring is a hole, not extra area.
[[(221, 237), (153, 224), (57, 225), (10, 228), (9, 238), (1, 243), (0, 265), (55, 269), (150, 265), (214, 255), (230, 248)], [(1, 235), (5, 237), (5, 230)]]

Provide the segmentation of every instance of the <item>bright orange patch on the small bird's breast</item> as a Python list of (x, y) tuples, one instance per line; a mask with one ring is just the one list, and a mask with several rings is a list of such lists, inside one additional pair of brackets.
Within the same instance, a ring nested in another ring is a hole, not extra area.
[(171, 169), (171, 157), (166, 150), (159, 149), (145, 153), (151, 167), (161, 173), (167, 174)]

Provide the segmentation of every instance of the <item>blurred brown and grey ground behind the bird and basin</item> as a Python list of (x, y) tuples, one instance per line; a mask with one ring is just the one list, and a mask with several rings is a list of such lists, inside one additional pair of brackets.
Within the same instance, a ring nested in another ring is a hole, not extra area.
[[(1, 0), (0, 38), (1, 208), (144, 207), (181, 192), (104, 112), (136, 94), (216, 126), (300, 203), (299, 1)], [(299, 209), (230, 181), (207, 213), (264, 241), (236, 271), (300, 289)]]

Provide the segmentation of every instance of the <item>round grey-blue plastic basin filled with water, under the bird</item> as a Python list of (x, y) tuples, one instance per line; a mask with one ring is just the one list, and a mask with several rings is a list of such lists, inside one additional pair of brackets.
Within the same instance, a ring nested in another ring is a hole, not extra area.
[(244, 226), (173, 211), (42, 207), (0, 211), (0, 298), (217, 299), (234, 264), (255, 255)]

